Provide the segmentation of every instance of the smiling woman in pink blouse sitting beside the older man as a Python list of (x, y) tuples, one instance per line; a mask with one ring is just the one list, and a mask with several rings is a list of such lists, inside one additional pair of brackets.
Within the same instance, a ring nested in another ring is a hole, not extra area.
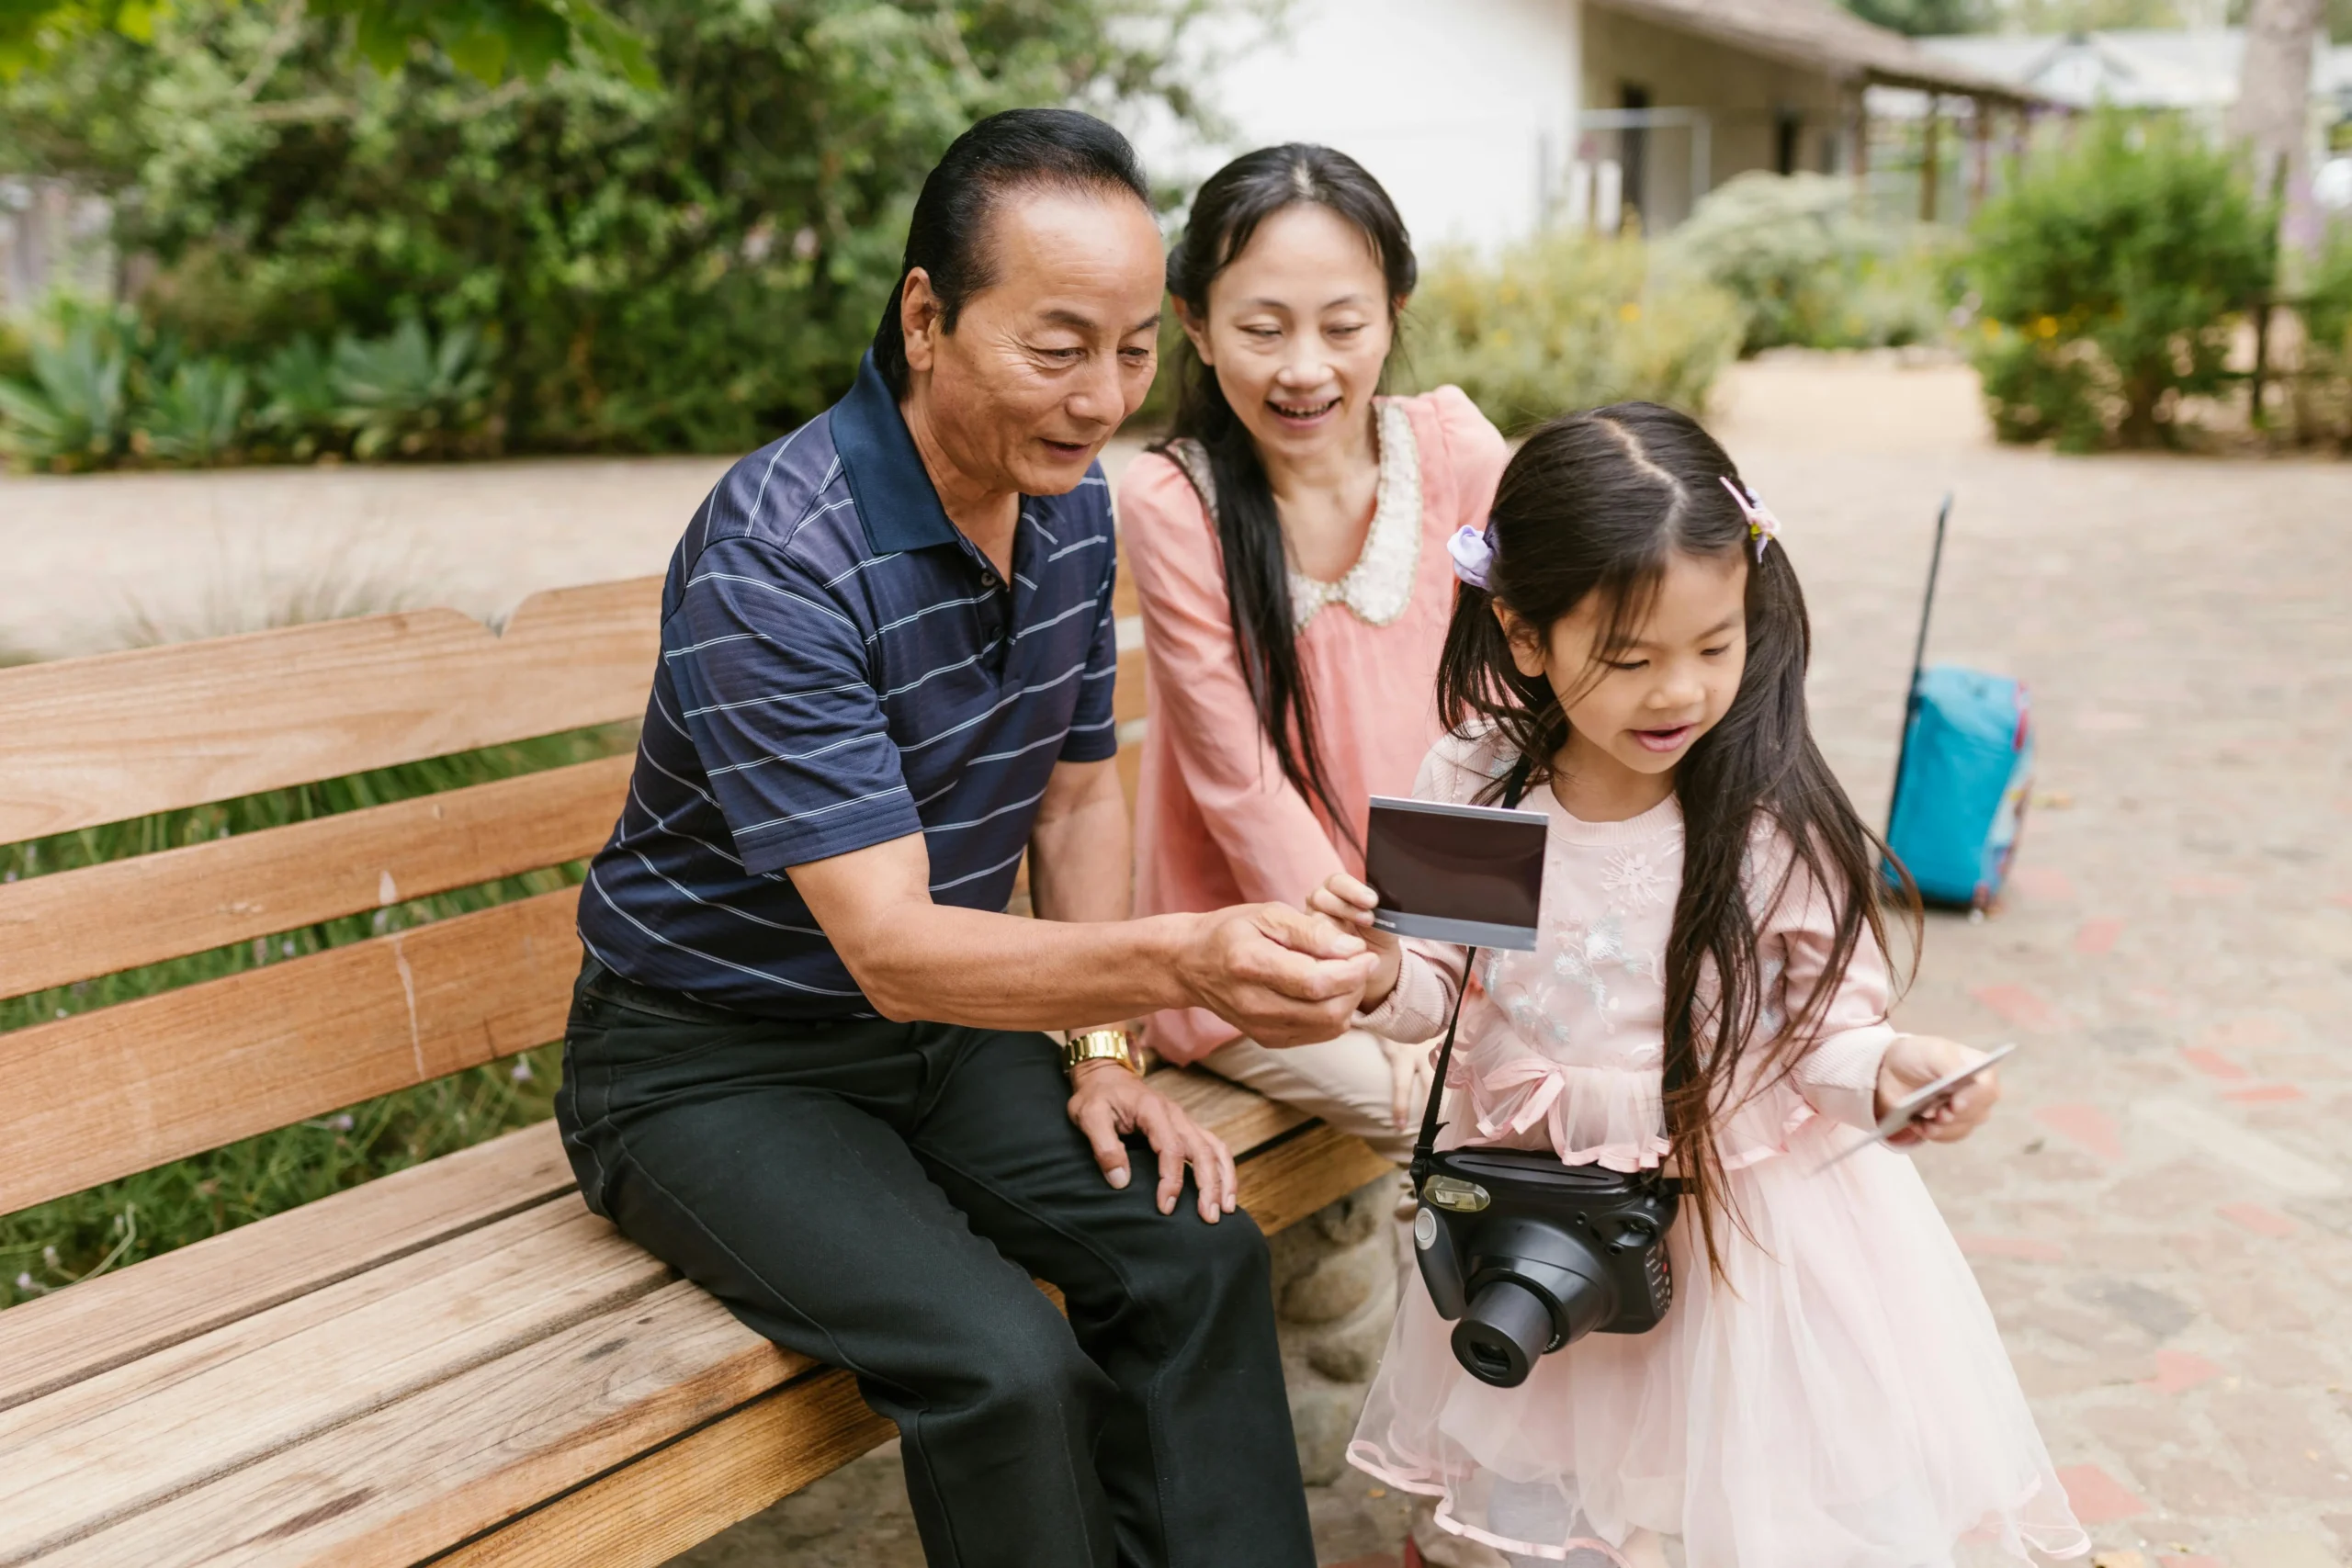
[[(1411, 292), (1404, 221), (1345, 153), (1263, 148), (1192, 200), (1176, 430), (1120, 482), (1152, 682), (1138, 914), (1362, 875), (1367, 797), (1409, 795), (1437, 738), (1446, 538), (1484, 524), (1508, 451), (1458, 388), (1376, 395)], [(1195, 1009), (1150, 1046), (1397, 1161), (1428, 1086), (1425, 1051), (1367, 1032), (1268, 1051)]]

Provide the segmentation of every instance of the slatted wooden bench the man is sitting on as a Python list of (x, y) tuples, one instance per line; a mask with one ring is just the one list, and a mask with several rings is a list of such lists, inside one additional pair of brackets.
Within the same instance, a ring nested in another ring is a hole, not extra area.
[[(656, 581), (0, 672), (0, 842), (642, 715)], [(1122, 670), (1120, 710), (1141, 719)], [(0, 997), (593, 853), (628, 757), (0, 886)], [(572, 889), (0, 1034), (0, 1213), (562, 1032)], [(1381, 1175), (1162, 1079), (1279, 1229)], [(550, 1124), (0, 1312), (0, 1566), (661, 1563), (889, 1436), (588, 1215)]]

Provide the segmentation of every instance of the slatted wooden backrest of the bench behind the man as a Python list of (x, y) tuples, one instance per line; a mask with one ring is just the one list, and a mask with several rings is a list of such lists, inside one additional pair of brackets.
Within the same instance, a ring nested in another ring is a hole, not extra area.
[[(635, 578), (534, 595), (503, 635), (416, 611), (0, 670), (0, 842), (637, 719), (659, 604)], [(1112, 703), (1143, 715), (1141, 646)], [(0, 997), (590, 856), (628, 769), (0, 884)], [(0, 1032), (0, 1150), (19, 1152), (0, 1213), (557, 1039), (574, 910), (548, 893)]]

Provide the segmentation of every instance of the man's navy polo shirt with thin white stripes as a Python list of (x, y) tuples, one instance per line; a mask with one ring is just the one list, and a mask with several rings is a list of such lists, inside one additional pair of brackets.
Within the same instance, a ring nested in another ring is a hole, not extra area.
[(637, 769), (581, 889), (590, 957), (769, 1018), (870, 1018), (788, 867), (920, 832), (934, 900), (1002, 910), (1054, 764), (1117, 752), (1115, 571), (1094, 465), (1021, 498), (1000, 581), (868, 355), (670, 557)]

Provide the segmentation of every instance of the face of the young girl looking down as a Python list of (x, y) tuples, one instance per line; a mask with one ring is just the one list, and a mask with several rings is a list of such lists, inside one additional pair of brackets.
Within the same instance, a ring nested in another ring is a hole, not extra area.
[(1691, 743), (1715, 729), (1748, 668), (1748, 555), (1675, 555), (1658, 597), (1618, 649), (1602, 595), (1585, 599), (1543, 635), (1496, 604), (1522, 675), (1541, 675), (1569, 715), (1571, 773), (1672, 773)]

